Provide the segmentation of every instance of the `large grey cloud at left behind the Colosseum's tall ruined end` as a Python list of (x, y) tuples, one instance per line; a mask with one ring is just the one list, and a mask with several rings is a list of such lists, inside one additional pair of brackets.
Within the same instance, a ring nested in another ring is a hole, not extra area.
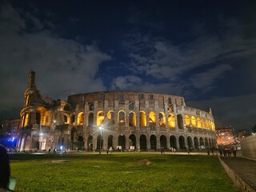
[[(106, 90), (102, 79), (95, 76), (101, 63), (111, 57), (96, 44), (82, 45), (61, 38), (44, 29), (44, 24), (34, 15), (20, 13), (10, 5), (2, 6), (0, 13), (2, 111), (10, 106), (22, 106), (29, 70), (36, 71), (36, 82), (42, 94), (53, 98)], [(28, 21), (32, 23), (30, 26)], [(36, 32), (26, 31), (31, 29)]]

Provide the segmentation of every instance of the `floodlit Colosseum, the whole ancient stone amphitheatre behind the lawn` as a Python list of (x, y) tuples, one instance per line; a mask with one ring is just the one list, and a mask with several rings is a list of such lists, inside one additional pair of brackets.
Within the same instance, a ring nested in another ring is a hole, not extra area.
[(194, 150), (216, 146), (212, 111), (170, 94), (106, 91), (67, 100), (40, 94), (30, 71), (17, 150)]

